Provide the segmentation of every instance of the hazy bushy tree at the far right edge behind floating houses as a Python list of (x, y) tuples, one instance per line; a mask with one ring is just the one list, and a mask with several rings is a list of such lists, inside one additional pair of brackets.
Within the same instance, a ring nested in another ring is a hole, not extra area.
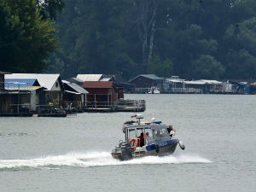
[(256, 71), (256, 18), (230, 25), (224, 40), (228, 53), (225, 55), (227, 75), (230, 78), (255, 79)]

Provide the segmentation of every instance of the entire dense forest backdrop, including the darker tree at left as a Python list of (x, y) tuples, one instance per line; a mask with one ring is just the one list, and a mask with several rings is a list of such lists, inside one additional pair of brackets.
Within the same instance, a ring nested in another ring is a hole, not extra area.
[(255, 0), (0, 0), (0, 25), (10, 72), (256, 75)]

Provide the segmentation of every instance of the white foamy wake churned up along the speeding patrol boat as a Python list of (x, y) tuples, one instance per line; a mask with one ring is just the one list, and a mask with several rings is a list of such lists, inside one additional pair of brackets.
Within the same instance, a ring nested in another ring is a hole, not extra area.
[(69, 153), (64, 155), (49, 155), (37, 159), (0, 160), (0, 171), (22, 171), (34, 169), (60, 169), (62, 166), (90, 167), (90, 166), (122, 166), (140, 164), (188, 164), (211, 163), (196, 154), (147, 156), (134, 160), (119, 161), (112, 158), (108, 152)]

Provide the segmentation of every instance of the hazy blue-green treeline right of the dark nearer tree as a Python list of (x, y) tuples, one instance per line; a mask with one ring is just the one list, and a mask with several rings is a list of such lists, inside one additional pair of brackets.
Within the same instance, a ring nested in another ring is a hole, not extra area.
[(250, 79), (255, 0), (66, 0), (52, 70)]

